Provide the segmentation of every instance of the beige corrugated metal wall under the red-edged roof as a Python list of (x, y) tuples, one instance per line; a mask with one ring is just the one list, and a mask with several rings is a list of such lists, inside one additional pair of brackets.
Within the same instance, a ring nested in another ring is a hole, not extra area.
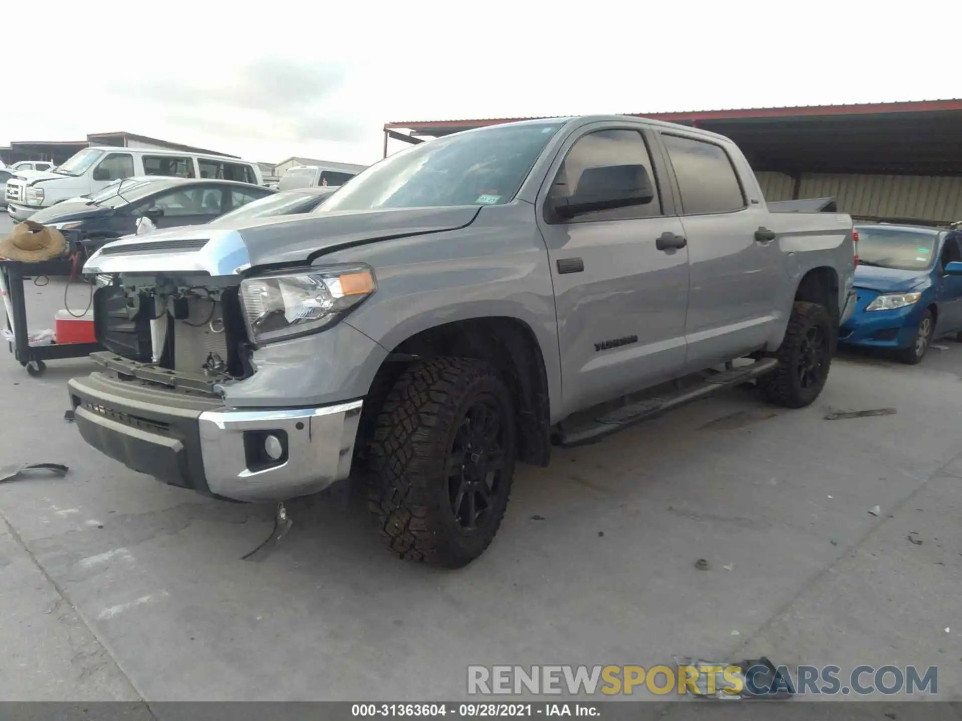
[[(768, 171), (755, 176), (766, 200), (792, 199), (795, 181), (791, 176)], [(805, 173), (798, 197), (833, 197), (840, 211), (863, 217), (962, 220), (962, 178)]]

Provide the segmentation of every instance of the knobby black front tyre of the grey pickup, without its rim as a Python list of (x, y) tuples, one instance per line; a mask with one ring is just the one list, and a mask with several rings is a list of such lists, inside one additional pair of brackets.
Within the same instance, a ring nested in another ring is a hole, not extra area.
[[(465, 531), (452, 510), (448, 463), (468, 411), (479, 403), (499, 414), (503, 471), (487, 522)], [(459, 358), (412, 364), (388, 393), (369, 445), (368, 508), (382, 540), (402, 559), (447, 568), (476, 559), (504, 517), (515, 447), (511, 394), (491, 364)]]

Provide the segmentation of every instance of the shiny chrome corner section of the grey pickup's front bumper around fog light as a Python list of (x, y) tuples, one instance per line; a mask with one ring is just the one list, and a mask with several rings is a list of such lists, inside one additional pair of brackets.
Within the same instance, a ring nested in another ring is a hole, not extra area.
[[(214, 410), (200, 414), (200, 450), (211, 492), (239, 501), (283, 501), (347, 478), (361, 401), (291, 410)], [(287, 435), (287, 457), (247, 462), (249, 438)], [(245, 440), (245, 437), (247, 440)]]

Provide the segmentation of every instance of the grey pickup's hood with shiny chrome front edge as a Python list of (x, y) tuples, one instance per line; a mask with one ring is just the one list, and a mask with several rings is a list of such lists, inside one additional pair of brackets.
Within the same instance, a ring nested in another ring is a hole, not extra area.
[(85, 273), (239, 275), (258, 266), (314, 261), (337, 248), (466, 228), (480, 206), (332, 211), (155, 231), (106, 244)]

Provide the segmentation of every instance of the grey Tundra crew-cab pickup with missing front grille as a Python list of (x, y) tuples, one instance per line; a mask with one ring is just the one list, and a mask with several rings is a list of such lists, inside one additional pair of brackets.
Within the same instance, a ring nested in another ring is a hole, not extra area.
[(284, 501), (352, 474), (393, 552), (491, 543), (515, 462), (726, 386), (806, 406), (851, 311), (851, 219), (771, 212), (725, 137), (619, 116), (414, 146), (318, 211), (104, 246), (84, 438)]

